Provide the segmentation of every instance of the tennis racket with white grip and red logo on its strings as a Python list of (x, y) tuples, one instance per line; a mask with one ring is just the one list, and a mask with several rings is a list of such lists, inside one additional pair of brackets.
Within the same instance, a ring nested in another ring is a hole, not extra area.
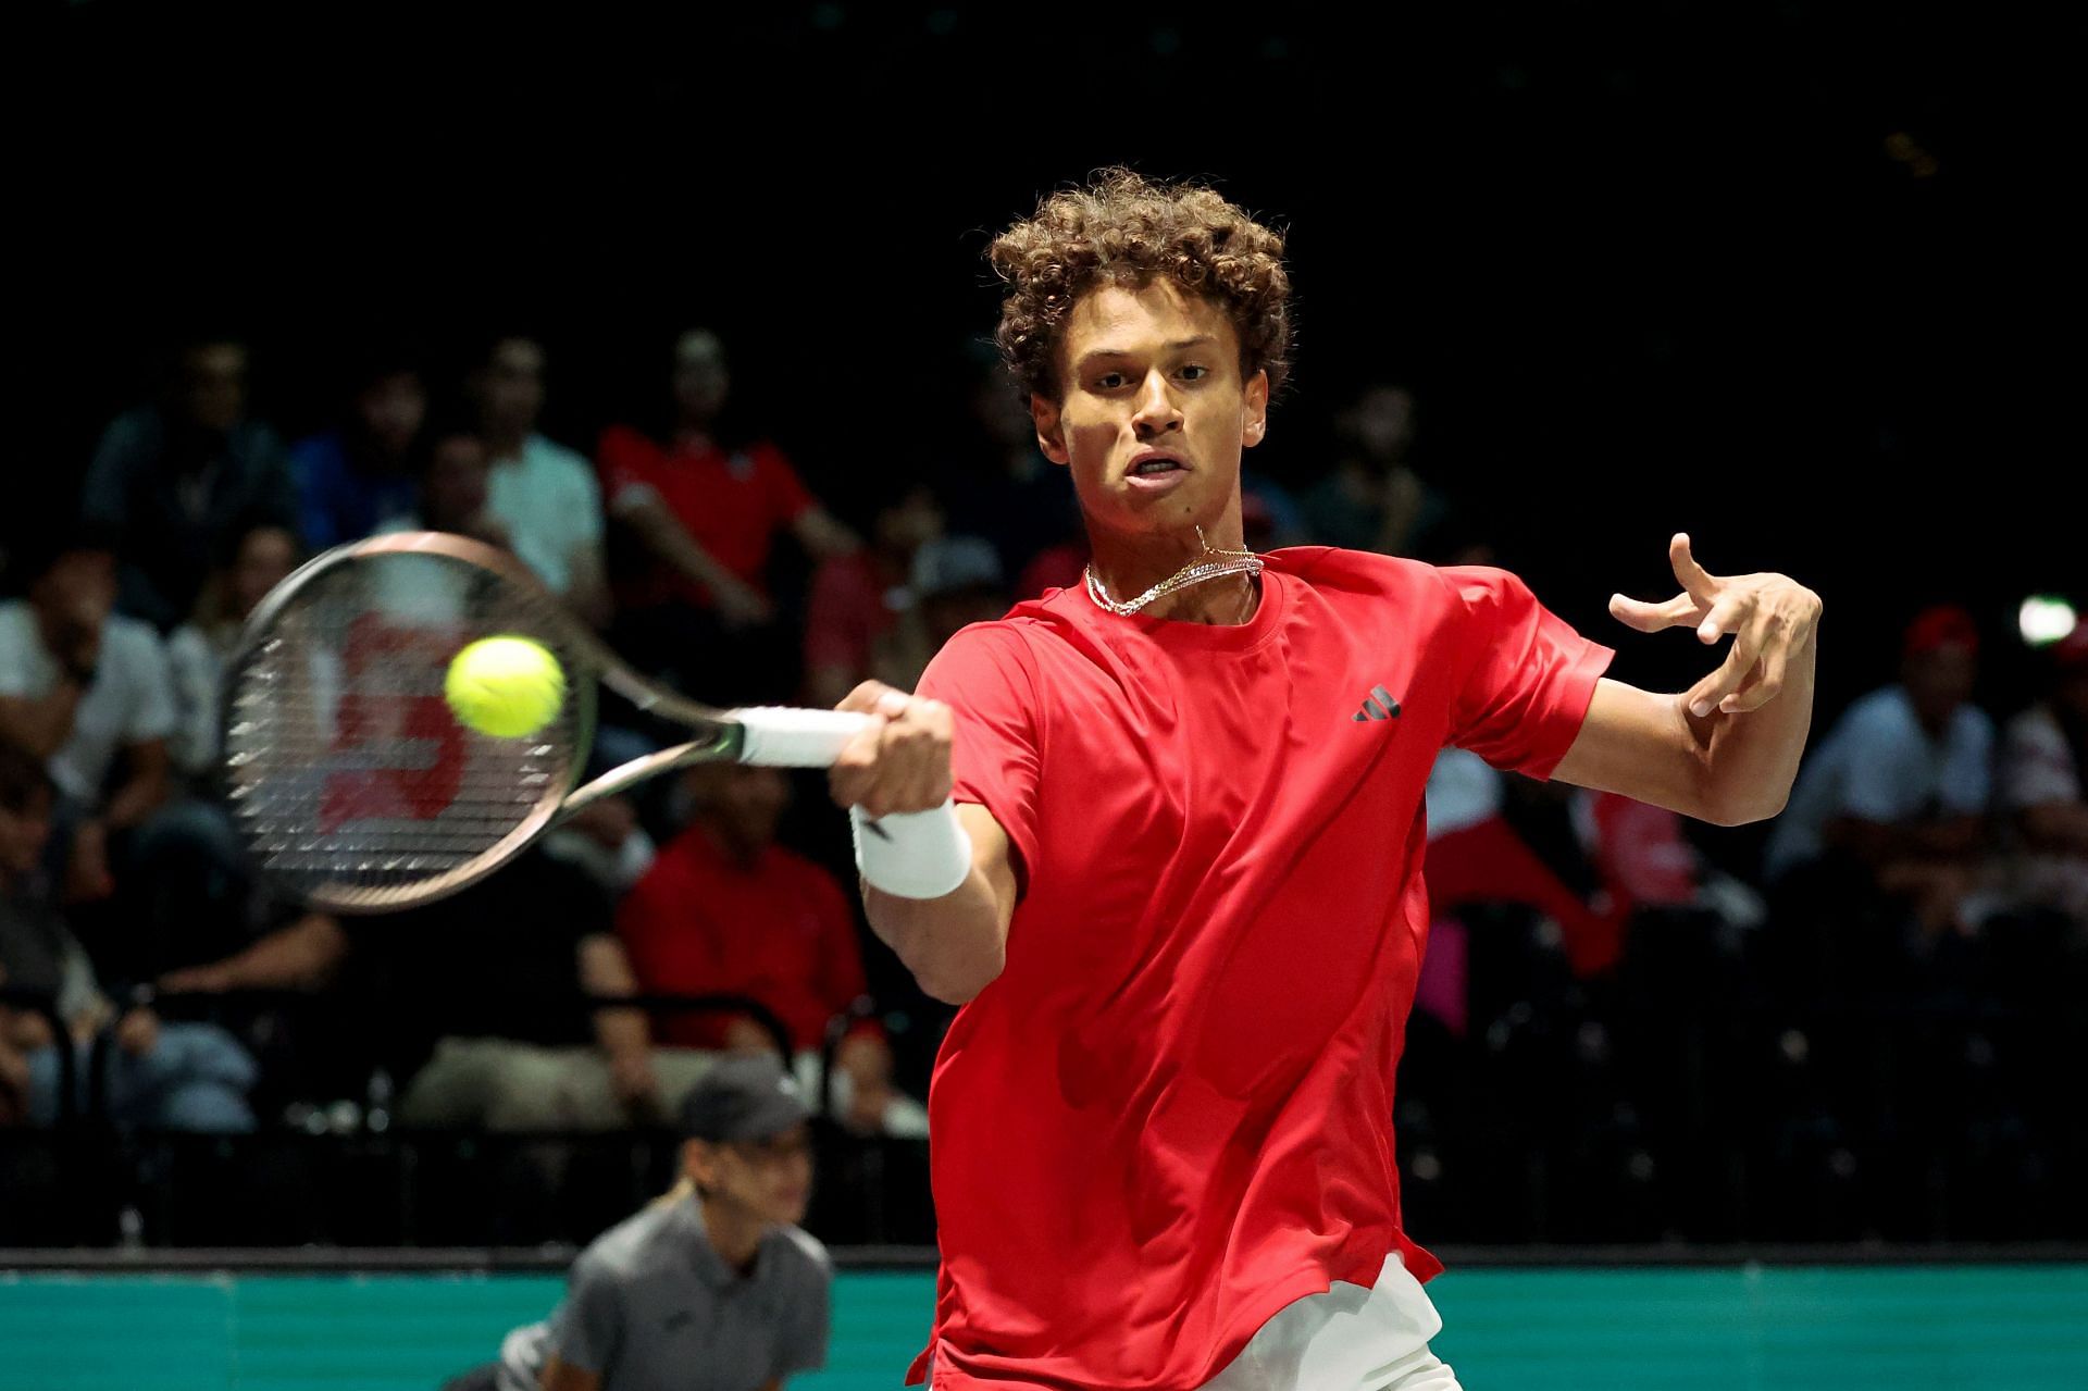
[[(451, 658), (480, 637), (543, 643), (566, 702), (520, 739), (461, 725)], [(587, 785), (595, 691), (687, 725), (687, 744)], [(334, 547), (255, 606), (226, 683), (234, 821), (263, 873), (334, 913), (434, 902), (487, 877), (564, 817), (695, 762), (831, 767), (862, 714), (716, 710), (620, 662), (512, 556), (447, 533)]]

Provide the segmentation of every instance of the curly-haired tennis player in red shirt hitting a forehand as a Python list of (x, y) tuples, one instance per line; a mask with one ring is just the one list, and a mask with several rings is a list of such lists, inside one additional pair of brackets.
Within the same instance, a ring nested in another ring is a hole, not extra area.
[[(1111, 171), (990, 251), (1086, 585), (958, 633), (833, 771), (877, 934), (963, 1003), (929, 1092), (942, 1272), (910, 1383), (1443, 1391), (1393, 1071), (1443, 746), (1733, 825), (1775, 815), (1821, 602), (1714, 576), (1610, 612), (1731, 650), (1681, 696), (1514, 574), (1251, 556), (1240, 451), (1290, 351), (1282, 236)], [(954, 800), (954, 806), (952, 806)]]

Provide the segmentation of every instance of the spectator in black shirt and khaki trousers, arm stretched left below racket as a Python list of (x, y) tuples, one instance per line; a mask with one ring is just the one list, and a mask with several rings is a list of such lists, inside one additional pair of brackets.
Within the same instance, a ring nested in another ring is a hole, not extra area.
[(311, 990), (336, 977), (372, 1005), (372, 1063), (411, 1076), (409, 1126), (614, 1130), (668, 1115), (708, 1057), (651, 1048), (608, 894), (541, 850), (407, 913), (311, 915), (161, 988)]

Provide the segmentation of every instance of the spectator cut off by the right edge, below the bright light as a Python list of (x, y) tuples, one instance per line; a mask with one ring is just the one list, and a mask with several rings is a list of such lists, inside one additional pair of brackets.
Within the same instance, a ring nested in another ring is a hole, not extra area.
[(2017, 900), (2088, 929), (2088, 622), (2046, 660), (2046, 698), (2002, 737), (2000, 810), (2015, 838)]

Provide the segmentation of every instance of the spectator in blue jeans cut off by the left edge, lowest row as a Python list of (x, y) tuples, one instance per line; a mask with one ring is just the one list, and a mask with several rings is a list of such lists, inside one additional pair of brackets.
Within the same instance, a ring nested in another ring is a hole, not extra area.
[(255, 1065), (230, 1034), (209, 1023), (161, 1023), (150, 1009), (119, 1011), (102, 994), (86, 948), (38, 888), (50, 812), (44, 764), (0, 741), (0, 984), (52, 996), (69, 1034), (54, 1038), (40, 1013), (0, 1007), (0, 1113), (33, 1126), (56, 1117), (58, 1048), (75, 1053), (75, 1105), (86, 1107), (94, 1092), (96, 1036), (113, 1030), (115, 1048), (100, 1051), (111, 1122), (217, 1134), (253, 1130), (246, 1090)]

